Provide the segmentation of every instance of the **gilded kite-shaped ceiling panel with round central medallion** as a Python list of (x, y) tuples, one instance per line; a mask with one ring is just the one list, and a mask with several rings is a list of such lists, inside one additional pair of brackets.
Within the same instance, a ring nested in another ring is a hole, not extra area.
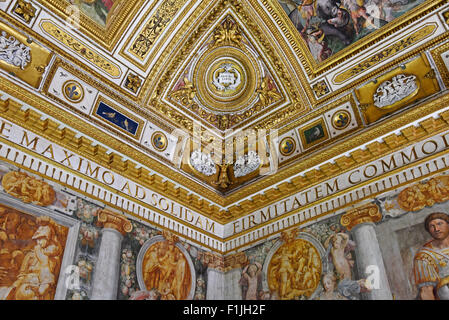
[(231, 15), (225, 15), (178, 70), (168, 101), (220, 130), (285, 101), (268, 60), (247, 32)]

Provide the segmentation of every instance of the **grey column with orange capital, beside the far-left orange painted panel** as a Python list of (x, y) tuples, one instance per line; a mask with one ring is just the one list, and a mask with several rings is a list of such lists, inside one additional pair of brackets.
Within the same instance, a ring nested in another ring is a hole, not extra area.
[(117, 299), (122, 240), (131, 232), (132, 224), (125, 216), (102, 210), (97, 225), (103, 227), (100, 251), (95, 264), (92, 300)]

